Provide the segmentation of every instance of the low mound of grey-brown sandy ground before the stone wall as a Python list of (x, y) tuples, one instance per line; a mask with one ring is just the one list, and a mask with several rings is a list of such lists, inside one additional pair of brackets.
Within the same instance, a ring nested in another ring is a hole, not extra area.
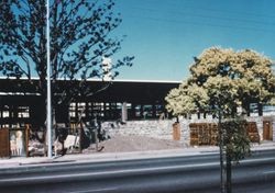
[[(179, 141), (157, 139), (138, 135), (116, 134), (110, 139), (99, 143), (99, 147), (105, 147), (101, 152), (130, 152), (146, 150), (164, 150), (180, 148)], [(96, 145), (91, 145), (86, 151), (95, 151)]]

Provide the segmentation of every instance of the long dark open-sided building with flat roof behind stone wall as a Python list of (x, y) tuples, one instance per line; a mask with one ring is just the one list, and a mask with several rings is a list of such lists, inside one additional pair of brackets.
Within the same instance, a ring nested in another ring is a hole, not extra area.
[[(26, 151), (32, 132), (45, 130), (41, 128), (45, 121), (45, 112), (43, 112), (45, 103), (41, 100), (41, 94), (35, 91), (38, 83), (38, 79), (33, 79), (32, 83), (24, 79), (0, 79), (0, 140), (10, 146), (2, 155), (21, 155), (21, 151), (14, 151), (12, 141), (15, 144), (15, 140), (21, 137), (23, 145), (20, 146)], [(68, 84), (68, 81), (58, 80), (54, 83), (63, 88)], [(54, 126), (59, 124), (67, 128), (77, 127), (79, 120), (90, 122), (95, 116), (101, 121), (121, 123), (167, 116), (164, 99), (169, 90), (178, 87), (180, 82), (89, 80), (86, 83), (95, 94), (79, 96), (69, 103), (57, 105), (53, 112), (55, 114)], [(53, 100), (57, 100), (56, 98), (61, 95), (62, 93), (54, 93)], [(43, 135), (45, 137), (45, 133)]]

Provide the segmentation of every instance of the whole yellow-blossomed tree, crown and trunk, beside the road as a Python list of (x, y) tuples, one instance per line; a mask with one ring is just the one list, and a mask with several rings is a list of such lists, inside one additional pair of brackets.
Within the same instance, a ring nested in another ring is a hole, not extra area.
[(245, 122), (235, 120), (237, 107), (249, 113), (250, 103), (275, 104), (272, 60), (250, 49), (211, 47), (195, 57), (190, 73), (168, 93), (166, 107), (174, 115), (204, 112), (219, 117), (221, 169), (226, 151), (227, 190), (231, 192), (231, 160), (239, 161), (250, 154)]

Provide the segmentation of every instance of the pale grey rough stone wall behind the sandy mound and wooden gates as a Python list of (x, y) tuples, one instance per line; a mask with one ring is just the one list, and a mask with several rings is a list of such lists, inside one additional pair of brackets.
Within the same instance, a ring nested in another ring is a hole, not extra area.
[[(246, 117), (248, 122), (255, 122), (261, 140), (263, 139), (263, 121), (265, 117)], [(173, 124), (175, 120), (154, 120), (154, 121), (128, 121), (124, 124), (119, 122), (105, 122), (102, 127), (110, 134), (120, 135), (142, 135), (158, 139), (173, 139)], [(208, 116), (207, 118), (190, 120), (183, 118), (180, 124), (180, 144), (189, 146), (190, 144), (190, 123), (218, 123), (217, 118)], [(275, 140), (275, 118), (273, 117), (273, 140)]]

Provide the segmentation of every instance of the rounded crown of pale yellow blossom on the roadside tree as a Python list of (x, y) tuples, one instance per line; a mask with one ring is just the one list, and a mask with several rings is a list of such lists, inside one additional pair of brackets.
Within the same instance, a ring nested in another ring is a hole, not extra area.
[(190, 73), (166, 96), (174, 115), (220, 109), (228, 117), (238, 106), (249, 113), (250, 103), (275, 103), (272, 60), (256, 52), (211, 47), (195, 58)]

